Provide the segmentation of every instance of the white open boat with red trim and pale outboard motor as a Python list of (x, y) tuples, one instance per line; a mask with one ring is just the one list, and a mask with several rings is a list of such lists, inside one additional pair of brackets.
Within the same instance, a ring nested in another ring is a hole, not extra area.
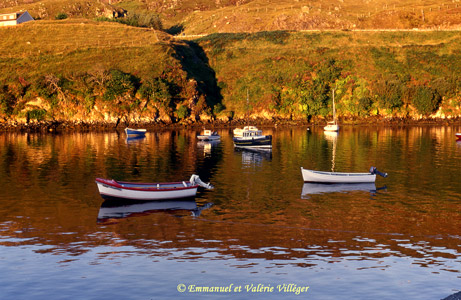
[(105, 199), (167, 200), (195, 197), (197, 188), (212, 189), (211, 184), (203, 183), (197, 175), (189, 181), (162, 183), (135, 183), (113, 179), (96, 178), (99, 193)]

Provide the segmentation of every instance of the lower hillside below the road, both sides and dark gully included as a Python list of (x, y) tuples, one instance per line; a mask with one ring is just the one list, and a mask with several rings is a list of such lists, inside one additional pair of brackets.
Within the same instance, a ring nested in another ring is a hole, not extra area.
[(460, 113), (458, 32), (274, 31), (179, 42), (68, 21), (0, 35), (4, 120), (316, 120), (331, 115), (333, 89), (342, 118)]

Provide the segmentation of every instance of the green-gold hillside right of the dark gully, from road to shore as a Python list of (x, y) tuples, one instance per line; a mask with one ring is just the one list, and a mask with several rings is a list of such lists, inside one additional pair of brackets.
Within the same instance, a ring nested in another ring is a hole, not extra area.
[[(234, 117), (459, 116), (459, 32), (260, 32), (196, 41)], [(247, 105), (247, 92), (249, 105)]]

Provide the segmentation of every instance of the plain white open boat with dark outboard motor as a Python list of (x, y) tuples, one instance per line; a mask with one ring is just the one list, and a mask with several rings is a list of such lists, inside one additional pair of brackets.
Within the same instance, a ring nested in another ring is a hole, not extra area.
[(318, 183), (366, 183), (375, 182), (376, 174), (387, 177), (387, 173), (379, 172), (375, 167), (368, 173), (342, 173), (308, 170), (301, 167), (304, 182)]

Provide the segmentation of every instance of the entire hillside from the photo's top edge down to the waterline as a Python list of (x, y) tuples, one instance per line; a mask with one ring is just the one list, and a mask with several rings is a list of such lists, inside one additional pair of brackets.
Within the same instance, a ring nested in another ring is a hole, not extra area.
[[(422, 4), (421, 15), (409, 1), (393, 8), (347, 0), (323, 6), (204, 0), (198, 8), (168, 2), (180, 6), (173, 10), (167, 2), (19, 0), (0, 7), (24, 7), (41, 19), (0, 28), (0, 118), (316, 121), (330, 117), (333, 90), (343, 119), (461, 115), (459, 31), (350, 30), (434, 28), (442, 15), (449, 22), (439, 27), (453, 28), (458, 7), (448, 2)], [(306, 25), (311, 17), (317, 25)], [(300, 31), (319, 28), (342, 30)], [(167, 32), (214, 33), (181, 41)]]

